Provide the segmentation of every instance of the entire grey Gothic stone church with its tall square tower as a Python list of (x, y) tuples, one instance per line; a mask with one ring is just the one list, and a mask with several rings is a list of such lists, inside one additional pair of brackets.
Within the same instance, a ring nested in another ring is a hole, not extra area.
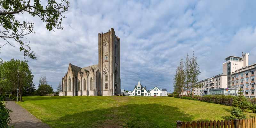
[(78, 67), (69, 63), (60, 96), (113, 96), (121, 94), (120, 38), (114, 28), (99, 33), (99, 64)]

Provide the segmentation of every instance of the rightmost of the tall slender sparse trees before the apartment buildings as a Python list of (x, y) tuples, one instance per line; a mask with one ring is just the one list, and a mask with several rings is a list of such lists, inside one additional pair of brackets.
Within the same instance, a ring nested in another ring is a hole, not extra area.
[(198, 75), (201, 74), (199, 65), (197, 64), (195, 54), (193, 52), (193, 56), (190, 59), (190, 83), (192, 88), (192, 98), (194, 98), (194, 89), (202, 86), (201, 84), (196, 84), (198, 82)]

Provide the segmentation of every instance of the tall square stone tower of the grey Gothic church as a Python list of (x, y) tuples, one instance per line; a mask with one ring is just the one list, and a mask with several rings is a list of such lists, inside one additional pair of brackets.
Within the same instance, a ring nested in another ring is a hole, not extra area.
[(99, 68), (102, 95), (120, 94), (120, 38), (115, 35), (114, 28), (99, 33)]

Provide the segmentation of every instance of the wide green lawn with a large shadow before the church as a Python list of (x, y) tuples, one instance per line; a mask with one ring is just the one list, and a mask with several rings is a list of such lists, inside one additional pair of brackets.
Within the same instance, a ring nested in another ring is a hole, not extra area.
[[(230, 107), (173, 97), (23, 97), (18, 104), (52, 128), (175, 127), (176, 121), (221, 120)], [(250, 110), (247, 117), (256, 116)]]

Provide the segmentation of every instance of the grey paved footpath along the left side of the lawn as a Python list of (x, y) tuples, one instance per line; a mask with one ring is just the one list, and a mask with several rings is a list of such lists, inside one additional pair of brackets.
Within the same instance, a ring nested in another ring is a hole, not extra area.
[(10, 113), (12, 119), (10, 126), (14, 125), (14, 128), (50, 128), (47, 124), (16, 104), (15, 101), (7, 100), (5, 105), (8, 109), (12, 110)]

